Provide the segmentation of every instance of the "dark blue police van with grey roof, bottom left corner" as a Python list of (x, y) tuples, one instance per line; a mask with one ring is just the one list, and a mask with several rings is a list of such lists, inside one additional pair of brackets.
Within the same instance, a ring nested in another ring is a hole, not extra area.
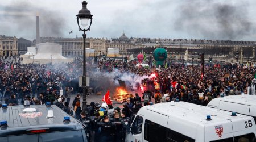
[(0, 141), (89, 141), (86, 126), (55, 105), (0, 108)]

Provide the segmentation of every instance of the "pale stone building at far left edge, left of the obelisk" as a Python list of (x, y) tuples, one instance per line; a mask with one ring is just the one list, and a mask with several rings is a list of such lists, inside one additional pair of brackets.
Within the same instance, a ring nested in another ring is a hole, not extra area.
[(18, 39), (16, 36), (0, 35), (0, 55), (15, 56), (18, 55)]

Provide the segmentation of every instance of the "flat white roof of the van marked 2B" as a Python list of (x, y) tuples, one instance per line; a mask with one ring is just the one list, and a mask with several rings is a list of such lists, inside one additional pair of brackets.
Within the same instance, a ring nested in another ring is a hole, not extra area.
[[(246, 115), (237, 114), (236, 117), (231, 116), (232, 112), (217, 110), (215, 108), (195, 105), (188, 102), (174, 102), (175, 105), (171, 105), (173, 102), (159, 103), (152, 106), (142, 107), (138, 113), (142, 110), (151, 110), (169, 116), (172, 119), (185, 119), (188, 122), (205, 126), (205, 124), (225, 121), (227, 119), (238, 119), (249, 117)], [(147, 115), (147, 112), (143, 113)], [(211, 116), (212, 120), (206, 120), (207, 115)]]

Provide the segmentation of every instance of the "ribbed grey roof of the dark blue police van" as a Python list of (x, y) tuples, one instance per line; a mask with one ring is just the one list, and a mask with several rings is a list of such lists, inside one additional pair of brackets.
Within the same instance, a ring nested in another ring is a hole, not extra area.
[[(32, 118), (27, 118), (28, 113), (24, 113), (24, 108), (35, 108), (36, 112), (33, 113)], [(54, 118), (47, 118), (48, 110), (53, 111)], [(46, 107), (46, 105), (30, 105), (30, 107), (24, 106), (8, 106), (7, 109), (0, 109), (0, 121), (6, 120), (8, 128), (18, 127), (56, 127), (64, 126), (64, 116), (69, 116), (66, 112), (59, 107), (52, 105)], [(75, 118), (70, 117), (71, 122), (69, 124), (80, 124)], [(65, 125), (67, 127), (67, 125)]]

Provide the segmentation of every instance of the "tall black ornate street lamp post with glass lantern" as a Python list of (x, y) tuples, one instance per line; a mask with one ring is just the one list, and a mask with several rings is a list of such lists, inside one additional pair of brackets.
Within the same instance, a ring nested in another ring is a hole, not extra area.
[[(87, 110), (87, 101), (86, 101), (86, 50), (85, 50), (85, 39), (86, 39), (86, 31), (90, 31), (90, 26), (92, 25), (92, 14), (90, 14), (90, 10), (87, 9), (87, 2), (82, 2), (82, 9), (79, 10), (79, 14), (76, 15), (77, 17), (77, 24), (79, 26), (79, 31), (83, 31), (84, 34), (82, 34), (82, 37), (84, 39), (84, 49), (83, 49), (83, 71), (82, 71), (82, 110)], [(80, 19), (80, 23), (79, 23)], [(90, 23), (89, 23), (90, 20)], [(89, 26), (88, 26), (89, 23)]]

